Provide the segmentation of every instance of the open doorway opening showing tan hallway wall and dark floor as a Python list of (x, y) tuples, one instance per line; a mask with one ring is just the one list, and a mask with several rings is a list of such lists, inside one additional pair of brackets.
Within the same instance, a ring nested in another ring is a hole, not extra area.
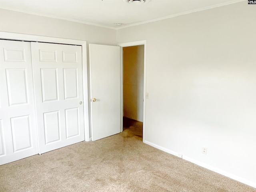
[(143, 137), (144, 44), (123, 47), (123, 131)]

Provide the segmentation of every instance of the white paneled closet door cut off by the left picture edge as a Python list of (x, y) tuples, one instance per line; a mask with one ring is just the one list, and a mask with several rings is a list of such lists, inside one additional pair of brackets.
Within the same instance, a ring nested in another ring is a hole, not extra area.
[(30, 51), (0, 40), (0, 164), (38, 154)]

